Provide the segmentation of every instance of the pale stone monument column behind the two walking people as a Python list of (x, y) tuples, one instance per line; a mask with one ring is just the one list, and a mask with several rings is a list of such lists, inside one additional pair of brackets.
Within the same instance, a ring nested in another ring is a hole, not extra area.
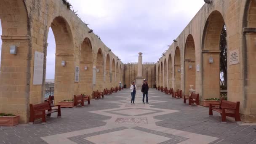
[(143, 84), (143, 77), (142, 77), (142, 53), (139, 53), (139, 59), (138, 59), (138, 72), (136, 77), (136, 85), (137, 89), (141, 89), (141, 86)]

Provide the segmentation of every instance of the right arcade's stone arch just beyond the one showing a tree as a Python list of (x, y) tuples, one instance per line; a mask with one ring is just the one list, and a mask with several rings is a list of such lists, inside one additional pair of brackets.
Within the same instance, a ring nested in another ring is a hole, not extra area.
[(184, 94), (189, 95), (190, 85), (195, 90), (195, 42), (192, 35), (188, 35), (184, 52)]

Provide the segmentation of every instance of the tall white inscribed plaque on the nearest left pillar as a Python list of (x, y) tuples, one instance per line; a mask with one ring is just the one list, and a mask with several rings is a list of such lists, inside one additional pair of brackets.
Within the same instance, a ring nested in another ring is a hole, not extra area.
[(43, 53), (35, 51), (33, 85), (43, 84)]

